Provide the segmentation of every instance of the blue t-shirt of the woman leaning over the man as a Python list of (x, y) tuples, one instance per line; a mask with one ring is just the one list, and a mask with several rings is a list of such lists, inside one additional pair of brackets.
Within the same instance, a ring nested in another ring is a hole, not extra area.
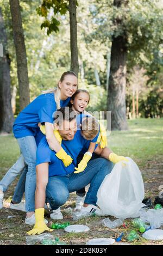
[[(65, 107), (70, 102), (70, 97), (60, 100), (60, 106)], [(39, 131), (39, 123), (53, 123), (53, 113), (57, 110), (54, 93), (41, 94), (36, 97), (20, 114), (13, 125), (15, 138), (35, 136)]]

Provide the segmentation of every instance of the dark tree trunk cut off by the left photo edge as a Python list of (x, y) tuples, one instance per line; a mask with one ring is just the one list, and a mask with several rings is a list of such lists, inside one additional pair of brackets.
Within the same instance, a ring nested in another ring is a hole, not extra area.
[(0, 38), (3, 44), (3, 57), (0, 58), (0, 131), (11, 132), (14, 115), (11, 108), (10, 58), (7, 53), (7, 35), (5, 33), (2, 10), (0, 8)]

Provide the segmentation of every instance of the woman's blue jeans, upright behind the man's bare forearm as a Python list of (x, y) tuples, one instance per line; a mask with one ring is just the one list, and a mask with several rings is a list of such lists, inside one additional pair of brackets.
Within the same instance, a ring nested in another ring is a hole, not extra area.
[[(26, 212), (31, 212), (35, 210), (35, 189), (36, 189), (36, 141), (34, 136), (27, 136), (17, 139), (18, 145), (21, 149), (24, 161), (27, 164), (27, 175), (26, 175), (26, 186), (25, 186), (25, 197), (26, 197)], [(21, 179), (25, 178), (25, 173), (21, 176)], [(22, 184), (19, 181), (14, 192), (13, 200), (17, 202), (17, 199), (20, 200), (20, 195), (22, 194)], [(17, 194), (20, 192), (20, 194)]]

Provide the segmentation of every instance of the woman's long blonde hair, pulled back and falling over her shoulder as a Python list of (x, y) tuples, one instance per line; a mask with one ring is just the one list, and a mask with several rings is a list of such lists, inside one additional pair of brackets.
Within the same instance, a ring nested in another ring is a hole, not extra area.
[[(67, 75), (73, 75), (73, 76), (77, 77), (77, 75), (73, 71), (66, 71), (61, 75), (60, 82), (64, 81), (64, 78)], [(42, 91), (42, 93), (43, 94), (54, 93), (54, 99), (55, 99), (55, 102), (57, 104), (57, 109), (60, 109), (60, 87), (59, 87), (59, 83), (57, 84), (57, 88), (49, 88), (47, 90)]]

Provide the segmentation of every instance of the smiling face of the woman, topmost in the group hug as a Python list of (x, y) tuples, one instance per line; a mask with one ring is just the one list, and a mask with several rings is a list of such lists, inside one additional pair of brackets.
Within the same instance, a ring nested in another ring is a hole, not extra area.
[(67, 97), (71, 97), (76, 92), (78, 78), (73, 75), (66, 75), (62, 82), (59, 81), (58, 86), (60, 88), (61, 100), (66, 100)]

